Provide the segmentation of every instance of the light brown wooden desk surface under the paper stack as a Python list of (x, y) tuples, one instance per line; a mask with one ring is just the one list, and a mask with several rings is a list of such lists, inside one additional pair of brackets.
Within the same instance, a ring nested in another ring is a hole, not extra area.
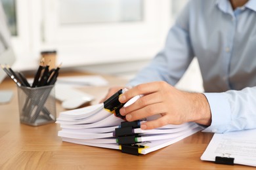
[[(112, 85), (123, 80), (106, 76)], [(11, 103), (0, 105), (0, 169), (253, 169), (243, 165), (217, 165), (201, 161), (212, 133), (196, 133), (147, 155), (133, 156), (119, 150), (62, 142), (58, 124), (32, 127), (20, 124), (16, 86), (10, 78), (0, 90), (13, 90)], [(106, 87), (83, 88), (98, 103)], [(56, 103), (57, 114), (64, 110)]]

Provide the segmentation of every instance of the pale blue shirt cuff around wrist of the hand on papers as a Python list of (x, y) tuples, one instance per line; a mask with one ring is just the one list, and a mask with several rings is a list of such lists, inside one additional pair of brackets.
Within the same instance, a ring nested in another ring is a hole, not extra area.
[(224, 93), (203, 93), (211, 109), (211, 126), (203, 132), (223, 133), (231, 121), (231, 110)]

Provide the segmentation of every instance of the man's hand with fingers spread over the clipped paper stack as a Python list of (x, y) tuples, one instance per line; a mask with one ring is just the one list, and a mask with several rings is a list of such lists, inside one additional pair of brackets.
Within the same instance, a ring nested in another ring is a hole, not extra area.
[[(113, 88), (110, 92), (117, 92)], [(119, 89), (118, 89), (119, 90)], [(143, 95), (135, 103), (120, 109), (121, 115), (127, 121), (139, 120), (160, 114), (161, 118), (145, 122), (141, 129), (154, 129), (167, 124), (183, 124), (197, 122), (209, 126), (211, 110), (202, 93), (190, 93), (177, 90), (167, 82), (150, 82), (131, 88), (119, 97), (121, 103), (126, 103), (135, 95)], [(110, 96), (110, 95), (107, 95)]]

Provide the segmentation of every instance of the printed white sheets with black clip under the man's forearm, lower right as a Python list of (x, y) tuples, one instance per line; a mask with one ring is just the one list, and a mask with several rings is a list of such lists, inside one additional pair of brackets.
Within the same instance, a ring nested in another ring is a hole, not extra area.
[(215, 156), (234, 158), (234, 163), (256, 166), (256, 129), (215, 133), (201, 160), (215, 161)]

